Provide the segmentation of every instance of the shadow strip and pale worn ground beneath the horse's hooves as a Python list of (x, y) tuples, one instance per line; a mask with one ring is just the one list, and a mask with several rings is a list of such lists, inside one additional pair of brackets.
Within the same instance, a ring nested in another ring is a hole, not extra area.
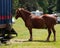
[[(54, 41), (46, 41), (46, 40), (32, 40), (32, 41), (29, 41), (29, 40), (24, 40), (24, 39), (15, 39), (15, 40), (11, 40), (11, 42), (7, 42), (7, 43), (3, 43), (5, 44), (5, 46), (7, 45), (10, 45), (11, 43), (32, 43), (32, 42), (42, 42), (42, 43), (50, 43), (50, 42), (54, 42)], [(1, 45), (1, 44), (0, 44)]]

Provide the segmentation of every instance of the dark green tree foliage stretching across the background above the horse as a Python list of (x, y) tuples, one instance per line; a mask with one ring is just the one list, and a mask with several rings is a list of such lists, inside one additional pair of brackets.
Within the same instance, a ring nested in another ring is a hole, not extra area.
[(56, 4), (55, 7), (53, 7), (53, 11), (60, 10), (60, 0), (13, 0), (13, 14), (15, 14), (15, 10), (18, 7), (24, 7), (25, 9), (29, 11), (35, 11), (37, 9), (42, 10), (44, 13), (47, 13), (47, 8), (50, 6), (49, 4), (52, 3), (52, 5)]

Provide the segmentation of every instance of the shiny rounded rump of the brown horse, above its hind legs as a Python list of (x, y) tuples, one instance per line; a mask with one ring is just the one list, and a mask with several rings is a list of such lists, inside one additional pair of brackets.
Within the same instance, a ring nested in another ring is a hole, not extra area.
[(42, 17), (44, 20), (45, 20), (45, 22), (46, 22), (46, 24), (48, 24), (48, 25), (55, 25), (56, 24), (56, 21), (57, 21), (57, 18), (55, 17), (55, 16), (53, 16), (53, 15), (43, 15), (43, 17)]

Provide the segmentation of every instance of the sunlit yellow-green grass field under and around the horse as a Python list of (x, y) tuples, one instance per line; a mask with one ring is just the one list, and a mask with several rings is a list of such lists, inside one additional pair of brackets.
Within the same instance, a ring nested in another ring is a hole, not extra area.
[(2, 44), (0, 48), (60, 48), (60, 24), (55, 26), (56, 42), (53, 42), (53, 33), (51, 34), (50, 42), (45, 42), (48, 33), (46, 29), (33, 29), (33, 41), (28, 41), (29, 31), (21, 19), (16, 20), (13, 28), (18, 33), (18, 36), (12, 39), (13, 43), (9, 45)]

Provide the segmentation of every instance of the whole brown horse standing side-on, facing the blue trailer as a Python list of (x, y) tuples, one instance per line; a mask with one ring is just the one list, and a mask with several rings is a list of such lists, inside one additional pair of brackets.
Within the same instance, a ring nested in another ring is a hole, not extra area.
[(21, 17), (25, 22), (25, 26), (28, 28), (30, 33), (29, 41), (32, 41), (32, 28), (45, 28), (48, 29), (47, 41), (49, 41), (51, 30), (54, 34), (54, 41), (56, 41), (56, 31), (54, 25), (56, 24), (56, 17), (54, 15), (44, 14), (42, 16), (36, 16), (24, 8), (18, 8), (16, 10), (16, 19)]

